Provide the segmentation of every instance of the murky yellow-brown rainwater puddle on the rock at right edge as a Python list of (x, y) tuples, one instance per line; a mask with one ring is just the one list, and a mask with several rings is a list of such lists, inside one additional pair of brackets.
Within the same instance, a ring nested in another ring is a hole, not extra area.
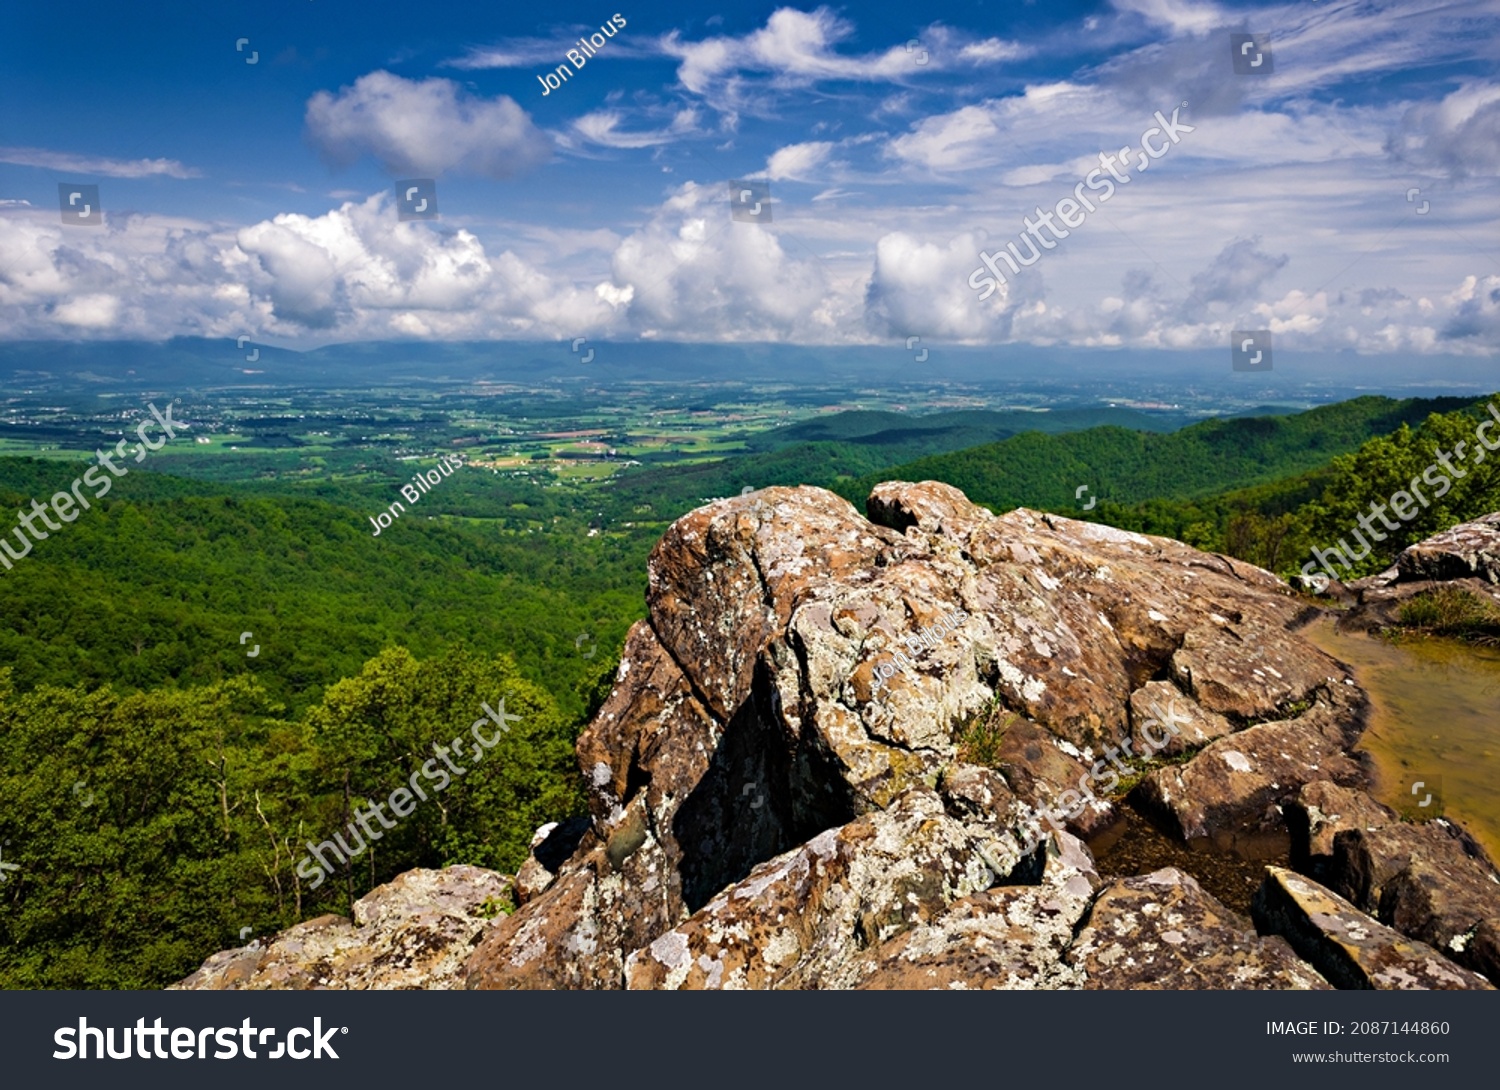
[(1371, 700), (1359, 741), (1376, 763), (1377, 799), (1404, 814), (1416, 780), (1442, 778), (1443, 816), (1500, 859), (1500, 651), (1449, 640), (1401, 643), (1340, 633), (1318, 621), (1302, 636), (1346, 663)]

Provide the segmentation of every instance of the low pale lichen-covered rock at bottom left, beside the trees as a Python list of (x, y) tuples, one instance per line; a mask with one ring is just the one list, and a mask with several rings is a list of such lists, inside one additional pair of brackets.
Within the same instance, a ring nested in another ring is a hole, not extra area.
[(478, 867), (406, 871), (354, 903), (352, 922), (318, 916), (208, 958), (177, 988), (462, 988), (474, 940), (512, 904), (512, 880)]

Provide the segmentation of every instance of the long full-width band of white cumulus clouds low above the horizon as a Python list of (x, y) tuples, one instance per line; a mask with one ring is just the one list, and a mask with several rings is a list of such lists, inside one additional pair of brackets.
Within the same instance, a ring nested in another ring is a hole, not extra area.
[[(1185, 274), (1191, 289), (1170, 273), (1122, 268), (1118, 288), (1095, 292), (1080, 289), (1077, 273), (1098, 261), (1080, 249), (1082, 264), (1070, 265), (1059, 249), (981, 303), (968, 279), (993, 241), (974, 231), (886, 231), (872, 253), (813, 256), (812, 237), (856, 240), (868, 229), (848, 210), (828, 220), (807, 210), (801, 237), (778, 237), (732, 222), (718, 186), (687, 183), (628, 235), (580, 235), (567, 247), (568, 270), (546, 238), (528, 261), (470, 231), (400, 222), (386, 192), (237, 231), (132, 216), (84, 232), (15, 208), (0, 214), (0, 336), (870, 343), (915, 334), (1216, 349), (1232, 328), (1270, 328), (1278, 346), (1476, 357), (1500, 340), (1500, 277), (1488, 273), (1432, 292), (1378, 279), (1334, 294), (1274, 289), (1293, 262), (1238, 238)], [(592, 271), (600, 255), (606, 276)], [(1064, 297), (1048, 297), (1042, 273)], [(1214, 301), (1185, 298), (1191, 291)]]

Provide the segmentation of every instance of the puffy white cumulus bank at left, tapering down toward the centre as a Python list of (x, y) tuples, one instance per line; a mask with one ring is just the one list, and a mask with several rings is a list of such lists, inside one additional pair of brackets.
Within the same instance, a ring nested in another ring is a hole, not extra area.
[(386, 192), (237, 231), (148, 216), (64, 231), (0, 216), (0, 334), (600, 336), (628, 301), (468, 231), (400, 222)]

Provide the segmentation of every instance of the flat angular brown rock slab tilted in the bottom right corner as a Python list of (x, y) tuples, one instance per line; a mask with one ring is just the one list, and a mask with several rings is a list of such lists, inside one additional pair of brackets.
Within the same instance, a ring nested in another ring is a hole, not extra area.
[(1293, 949), (1340, 988), (1490, 990), (1426, 943), (1382, 927), (1330, 889), (1269, 867), (1256, 894), (1256, 925)]

